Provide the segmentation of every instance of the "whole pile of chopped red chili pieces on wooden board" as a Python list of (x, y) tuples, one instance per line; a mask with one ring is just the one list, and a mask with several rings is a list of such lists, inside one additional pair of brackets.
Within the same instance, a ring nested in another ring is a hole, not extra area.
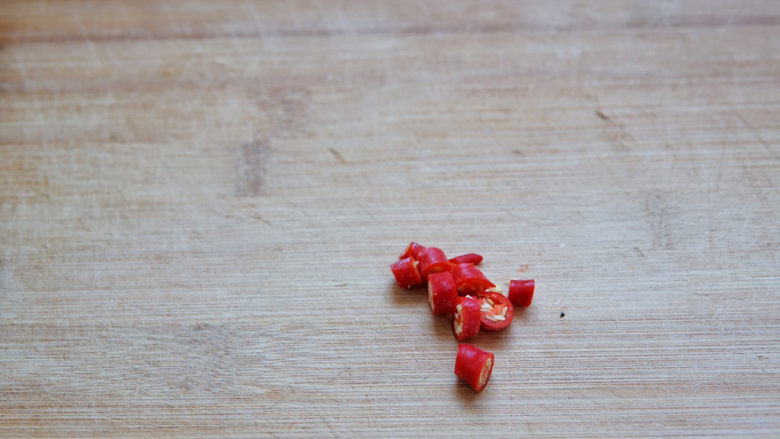
[[(533, 280), (510, 279), (507, 295), (477, 267), (482, 256), (466, 253), (447, 258), (437, 247), (411, 242), (390, 266), (401, 288), (428, 284), (428, 302), (434, 315), (451, 316), (452, 333), (458, 341), (480, 330), (498, 331), (512, 323), (514, 307), (528, 307), (534, 296)], [(495, 356), (476, 346), (460, 343), (455, 375), (477, 392), (485, 388)]]

